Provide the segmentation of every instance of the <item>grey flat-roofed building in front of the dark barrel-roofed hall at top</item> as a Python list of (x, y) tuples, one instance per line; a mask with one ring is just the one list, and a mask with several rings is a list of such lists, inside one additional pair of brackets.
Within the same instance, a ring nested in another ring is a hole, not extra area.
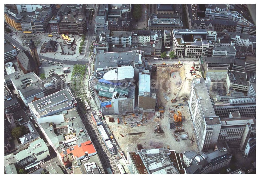
[(149, 30), (173, 30), (182, 29), (183, 23), (180, 17), (158, 17), (151, 14), (148, 21)]

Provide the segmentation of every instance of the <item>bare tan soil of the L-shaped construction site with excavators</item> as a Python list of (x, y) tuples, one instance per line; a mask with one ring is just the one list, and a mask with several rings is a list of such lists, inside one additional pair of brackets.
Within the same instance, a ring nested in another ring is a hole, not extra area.
[[(181, 153), (185, 150), (197, 150), (197, 144), (195, 142), (190, 142), (190, 139), (195, 138), (195, 136), (192, 129), (192, 121), (190, 119), (187, 100), (183, 102), (183, 98), (189, 97), (190, 82), (192, 78), (195, 78), (195, 75), (191, 76), (191, 73), (189, 73), (192, 64), (193, 63), (185, 63), (180, 68), (175, 68), (173, 66), (157, 67), (156, 71), (152, 73), (152, 79), (156, 81), (155, 88), (157, 88), (157, 85), (159, 87), (156, 89), (157, 105), (163, 106), (165, 111), (164, 113), (161, 113), (161, 118), (157, 118), (155, 113), (144, 113), (138, 116), (135, 114), (135, 116), (127, 115), (122, 117), (111, 115), (114, 117), (115, 122), (109, 122), (108, 118), (105, 117), (114, 138), (125, 155), (127, 155), (128, 151), (137, 150), (138, 144), (141, 144), (144, 149), (167, 148), (167, 146), (170, 146), (170, 149)], [(175, 75), (176, 78), (173, 78), (173, 75)], [(176, 97), (177, 94), (178, 96)], [(177, 102), (173, 104), (171, 103), (171, 99), (174, 98), (177, 99)], [(177, 110), (180, 111), (183, 116), (182, 124), (184, 132), (180, 134), (187, 134), (187, 140), (181, 140), (181, 136), (179, 135), (178, 138), (180, 141), (176, 141), (173, 134), (174, 130), (170, 129), (170, 123), (174, 123), (174, 119), (173, 116), (169, 116), (168, 109), (174, 108), (173, 105), (177, 105), (177, 103), (184, 105), (183, 108), (180, 107)], [(120, 118), (120, 124), (117, 123), (118, 117)], [(143, 126), (131, 128), (132, 124), (130, 123), (139, 121), (139, 119), (142, 118), (147, 119), (143, 122)], [(127, 122), (128, 124), (124, 124), (124, 122)], [(157, 132), (157, 124), (159, 124), (164, 133)], [(138, 132), (145, 133), (129, 135), (129, 133)]]

